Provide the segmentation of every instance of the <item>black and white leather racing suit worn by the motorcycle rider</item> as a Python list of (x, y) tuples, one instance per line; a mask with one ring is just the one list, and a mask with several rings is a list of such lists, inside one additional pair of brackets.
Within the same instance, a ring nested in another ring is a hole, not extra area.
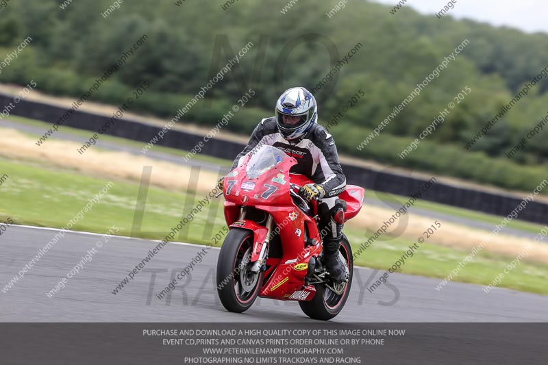
[[(255, 128), (245, 149), (238, 154), (232, 169), (242, 158), (259, 144), (281, 149), (297, 160), (290, 173), (306, 175), (325, 190), (323, 202), (327, 208), (335, 205), (338, 194), (346, 188), (346, 177), (340, 167), (335, 141), (327, 129), (314, 123), (306, 134), (297, 140), (285, 140), (279, 133), (276, 118), (264, 118)], [(337, 224), (331, 216), (322, 218), (320, 231), (323, 233), (323, 247), (326, 254), (338, 251), (343, 225)]]

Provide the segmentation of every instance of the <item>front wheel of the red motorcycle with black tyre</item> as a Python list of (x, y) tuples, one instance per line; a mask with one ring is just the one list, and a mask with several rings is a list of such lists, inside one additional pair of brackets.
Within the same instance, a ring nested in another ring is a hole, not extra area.
[(262, 271), (251, 273), (253, 232), (232, 228), (223, 242), (217, 261), (217, 294), (229, 312), (242, 313), (257, 299)]

